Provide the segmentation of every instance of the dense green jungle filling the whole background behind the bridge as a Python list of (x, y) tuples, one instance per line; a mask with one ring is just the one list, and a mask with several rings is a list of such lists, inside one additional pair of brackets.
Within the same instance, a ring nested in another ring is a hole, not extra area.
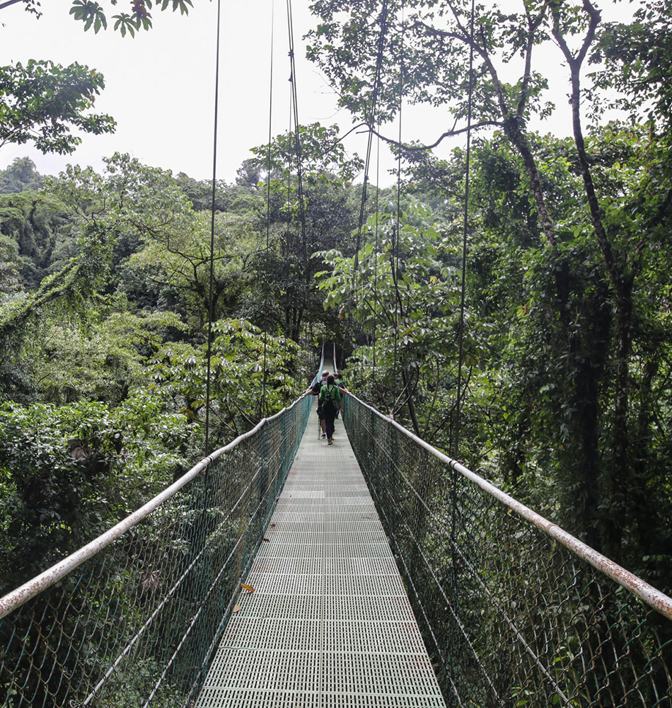
[[(587, 0), (528, 0), (482, 8), (471, 35), (459, 4), (397, 5), (315, 1), (308, 56), (384, 146), (400, 70), (405, 101), (451, 110), (463, 132), (474, 52), (458, 456), (669, 593), (671, 8), (609, 25)], [(571, 137), (528, 128), (552, 111), (543, 52), (567, 64)], [(80, 69), (0, 68), (0, 142), (31, 139), (22, 85)], [(74, 149), (54, 135), (45, 150)], [(303, 225), (292, 135), (216, 184), (216, 442), (305, 390), (325, 337), (354, 392), (453, 455), (465, 149), (393, 143), (399, 190), (369, 184), (357, 251), (363, 161), (339, 135), (301, 127)], [(211, 190), (124, 154), (102, 173), (0, 171), (1, 591), (202, 455)]]

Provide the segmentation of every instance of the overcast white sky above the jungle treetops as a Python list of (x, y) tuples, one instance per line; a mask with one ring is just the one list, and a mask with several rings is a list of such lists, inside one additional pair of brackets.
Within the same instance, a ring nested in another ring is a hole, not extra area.
[[(519, 0), (500, 0), (502, 8), (519, 6)], [(125, 0), (117, 8), (124, 11)], [(613, 15), (613, 5), (601, 0), (603, 18)], [(83, 142), (69, 156), (42, 155), (25, 145), (0, 149), (0, 169), (16, 157), (29, 156), (42, 174), (58, 173), (66, 164), (102, 168), (102, 157), (115, 151), (129, 152), (144, 164), (180, 171), (196, 179), (212, 177), (214, 107), (214, 57), (216, 1), (194, 0), (188, 16), (153, 11), (153, 29), (122, 38), (113, 32), (83, 31), (82, 23), (69, 16), (70, 0), (42, 0), (43, 15), (36, 19), (16, 4), (0, 10), (0, 62), (51, 59), (60, 64), (80, 62), (102, 72), (105, 90), (96, 111), (117, 120), (114, 135), (83, 135)], [(233, 181), (236, 169), (250, 156), (250, 147), (265, 144), (268, 136), (270, 42), (274, 13), (273, 135), (289, 127), (289, 40), (286, 3), (278, 0), (223, 0), (218, 132), (218, 178)], [(109, 8), (109, 6), (108, 6)], [(112, 8), (115, 13), (116, 8)], [(351, 127), (345, 111), (338, 112), (334, 93), (318, 69), (306, 61), (302, 39), (315, 24), (308, 0), (294, 0), (299, 120), (303, 124), (337, 122), (342, 132)], [(3, 26), (4, 25), (4, 26)], [(569, 108), (564, 94), (566, 69), (559, 50), (548, 57), (550, 80), (555, 81), (557, 115), (544, 132), (566, 132)], [(446, 112), (430, 108), (405, 108), (403, 139), (433, 142), (449, 125)], [(390, 135), (395, 129), (390, 128)], [(364, 157), (366, 139), (353, 137), (347, 149)], [(446, 144), (446, 151), (450, 144)], [(386, 148), (381, 148), (386, 154)], [(381, 161), (381, 170), (393, 166)], [(373, 178), (373, 173), (371, 175)], [(381, 177), (381, 183), (392, 178)]]

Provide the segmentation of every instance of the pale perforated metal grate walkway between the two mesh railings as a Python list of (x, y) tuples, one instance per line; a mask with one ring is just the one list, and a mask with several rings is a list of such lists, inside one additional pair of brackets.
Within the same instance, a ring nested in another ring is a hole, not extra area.
[(341, 421), (308, 423), (195, 708), (445, 708)]

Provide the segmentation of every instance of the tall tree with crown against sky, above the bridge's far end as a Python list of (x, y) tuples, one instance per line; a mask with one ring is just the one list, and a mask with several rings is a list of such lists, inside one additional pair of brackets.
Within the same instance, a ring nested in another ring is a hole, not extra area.
[[(258, 234), (257, 251), (248, 263), (256, 277), (241, 315), (293, 341), (299, 341), (306, 323), (324, 317), (313, 282), (321, 262), (313, 254), (332, 248), (352, 252), (359, 205), (348, 182), (361, 169), (361, 159), (344, 152), (337, 133), (337, 127), (318, 123), (299, 128), (301, 190), (292, 133), (253, 148), (255, 157), (238, 171), (238, 190), (249, 191), (231, 209), (246, 207)], [(262, 246), (266, 239), (268, 249)]]

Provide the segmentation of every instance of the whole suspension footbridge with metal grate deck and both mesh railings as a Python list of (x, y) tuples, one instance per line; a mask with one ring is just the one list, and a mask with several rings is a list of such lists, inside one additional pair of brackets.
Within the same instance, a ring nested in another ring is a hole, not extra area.
[(329, 447), (312, 408), (1, 598), (2, 705), (672, 707), (672, 598), (355, 396)]

